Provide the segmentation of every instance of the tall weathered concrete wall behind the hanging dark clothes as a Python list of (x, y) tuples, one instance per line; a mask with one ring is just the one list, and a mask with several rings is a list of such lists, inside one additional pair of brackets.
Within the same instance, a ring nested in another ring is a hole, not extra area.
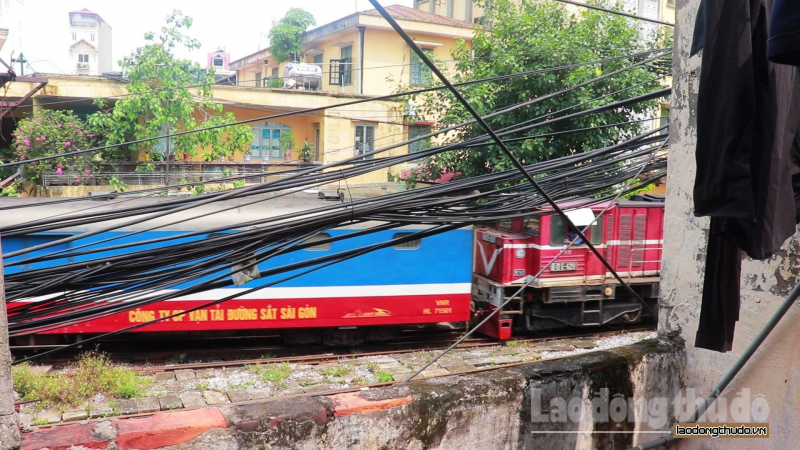
[[(742, 306), (733, 351), (721, 354), (695, 348), (708, 229), (707, 218), (694, 217), (692, 203), (697, 140), (695, 111), (702, 53), (692, 58), (688, 55), (699, 3), (699, 0), (678, 2), (659, 332), (674, 334), (686, 341), (684, 383), (687, 388), (695, 388), (698, 396), (705, 396), (798, 281), (796, 261), (800, 240), (791, 239), (768, 261), (744, 260)], [(726, 391), (728, 413), (731, 401), (737, 393), (743, 393), (742, 389), (750, 389), (751, 398), (764, 396), (763, 400), (769, 405), (766, 421), (771, 431), (774, 430), (770, 439), (688, 439), (680, 443), (680, 448), (797, 447), (800, 436), (796, 427), (800, 419), (797, 407), (800, 404), (799, 321), (800, 312), (793, 308)], [(704, 419), (717, 420), (714, 415)]]

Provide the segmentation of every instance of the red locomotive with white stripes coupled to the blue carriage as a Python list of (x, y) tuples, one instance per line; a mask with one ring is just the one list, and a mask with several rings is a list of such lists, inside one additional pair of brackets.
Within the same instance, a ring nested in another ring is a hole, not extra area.
[[(637, 196), (608, 207), (600, 203), (568, 213), (592, 223), (586, 237), (652, 310), (657, 310), (664, 238), (663, 197)], [(587, 219), (588, 217), (588, 219)], [(575, 239), (557, 215), (541, 215), (475, 231), (473, 321), (505, 303)], [(547, 331), (637, 322), (647, 314), (586, 245), (576, 242), (481, 333), (508, 339), (512, 330)]]

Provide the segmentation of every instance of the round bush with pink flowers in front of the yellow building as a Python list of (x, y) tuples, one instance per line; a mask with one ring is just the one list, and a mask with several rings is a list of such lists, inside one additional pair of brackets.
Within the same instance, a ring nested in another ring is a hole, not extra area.
[(86, 122), (72, 111), (44, 109), (35, 116), (22, 119), (14, 131), (14, 156), (19, 159), (57, 156), (59, 158), (28, 163), (22, 166), (22, 178), (41, 185), (45, 171), (75, 177), (80, 183), (94, 177), (103, 154), (76, 155), (81, 149), (95, 146), (99, 138)]

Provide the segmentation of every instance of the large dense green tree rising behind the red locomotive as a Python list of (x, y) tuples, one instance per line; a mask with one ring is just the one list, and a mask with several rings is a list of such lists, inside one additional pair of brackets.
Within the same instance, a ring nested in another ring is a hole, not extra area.
[[(655, 35), (643, 36), (643, 30), (636, 21), (602, 11), (583, 9), (572, 14), (556, 2), (492, 0), (491, 5), (487, 5), (488, 2), (485, 0), (477, 1), (486, 7), (482, 22), (490, 26), (475, 29), (471, 47), (464, 42), (456, 45), (452, 52), (456, 63), (450, 75), (450, 79), (454, 82), (624, 56), (660, 48), (665, 44)], [(574, 86), (604, 73), (621, 69), (633, 62), (634, 60), (625, 58), (495, 83), (480, 83), (460, 89), (470, 104), (481, 115), (485, 115), (497, 109)], [(493, 117), (487, 122), (494, 130), (542, 118), (536, 120), (539, 122), (562, 108), (644, 83), (601, 101), (571, 109), (569, 113), (627, 99), (659, 88), (658, 81), (645, 82), (657, 78), (660, 74), (663, 74), (663, 70), (660, 71), (657, 65), (640, 66), (532, 106)], [(457, 104), (446, 90), (423, 94), (416, 101), (422, 105), (420, 113), (427, 117), (437, 117), (441, 127), (472, 119), (472, 116)], [(442, 105), (449, 107), (443, 108)], [(642, 115), (650, 115), (656, 105), (657, 102), (654, 100), (591, 114), (544, 126), (528, 132), (528, 135), (634, 121), (642, 118)], [(552, 117), (564, 114), (566, 113)], [(642, 124), (630, 124), (564, 134), (553, 138), (523, 140), (508, 145), (524, 163), (530, 164), (618, 142), (620, 139), (636, 135), (642, 128)], [(448, 134), (446, 141), (458, 142), (482, 134), (484, 134), (483, 129), (476, 124)], [(523, 135), (516, 134), (505, 139), (520, 136)], [(508, 170), (512, 167), (511, 162), (497, 146), (488, 146), (432, 156), (428, 159), (424, 170), (416, 174), (416, 177), (436, 179), (442, 173), (453, 171), (460, 173), (461, 176), (472, 176)]]

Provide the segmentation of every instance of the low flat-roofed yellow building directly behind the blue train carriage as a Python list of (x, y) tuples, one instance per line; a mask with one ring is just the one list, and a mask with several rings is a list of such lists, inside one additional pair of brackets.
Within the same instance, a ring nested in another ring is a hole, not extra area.
[[(13, 112), (20, 119), (39, 108), (70, 109), (91, 112), (94, 98), (106, 98), (111, 103), (115, 97), (127, 95), (124, 81), (93, 76), (44, 75), (47, 85)], [(13, 82), (9, 85), (9, 100), (24, 96), (35, 83)], [(285, 170), (299, 163), (299, 149), (304, 141), (314, 148), (313, 160), (317, 163), (340, 161), (359, 153), (367, 153), (381, 147), (403, 142), (406, 125), (403, 122), (402, 104), (394, 101), (369, 101), (353, 106), (336, 107), (337, 104), (371, 96), (315, 92), (289, 89), (255, 89), (241, 86), (217, 85), (213, 97), (223, 105), (223, 112), (231, 112), (239, 121), (249, 121), (268, 116), (285, 114), (308, 108), (326, 108), (317, 112), (254, 120), (249, 125), (253, 131), (252, 155), (244, 151), (229, 155), (226, 161), (215, 161), (214, 165), (238, 165), (247, 160), (248, 167), (264, 171)], [(87, 107), (89, 109), (87, 109)], [(280, 147), (281, 134), (291, 131), (295, 146), (291, 152)], [(360, 138), (360, 139), (359, 139)], [(163, 145), (163, 142), (155, 146)], [(257, 147), (257, 148), (256, 148)], [(203, 161), (203, 153), (209, 149), (198, 148), (196, 155), (184, 161), (184, 155), (175, 155), (172, 170), (183, 163)], [(245, 150), (245, 149), (243, 149)], [(256, 151), (258, 150), (258, 151)], [(376, 158), (408, 153), (403, 145), (376, 155)], [(133, 152), (134, 161), (149, 161), (149, 152)], [(232, 156), (232, 158), (230, 157)], [(154, 163), (159, 170), (164, 162)], [(217, 167), (219, 168), (219, 167)], [(393, 167), (399, 173), (401, 166)], [(387, 181), (386, 171), (365, 174), (349, 180), (349, 183), (374, 183)]]

